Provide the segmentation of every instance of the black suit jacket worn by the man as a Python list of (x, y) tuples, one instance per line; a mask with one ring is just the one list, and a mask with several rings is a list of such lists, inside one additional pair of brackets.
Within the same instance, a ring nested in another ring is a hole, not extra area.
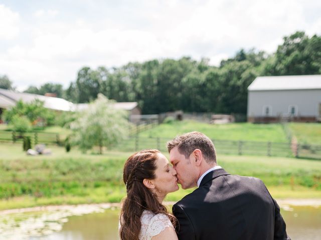
[(180, 240), (271, 240), (287, 237), (280, 208), (264, 183), (223, 168), (173, 206)]

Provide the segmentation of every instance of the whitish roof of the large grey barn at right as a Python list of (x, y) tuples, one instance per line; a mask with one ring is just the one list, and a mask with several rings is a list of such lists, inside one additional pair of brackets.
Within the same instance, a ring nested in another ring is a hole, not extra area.
[(247, 89), (250, 91), (321, 89), (321, 75), (258, 76)]

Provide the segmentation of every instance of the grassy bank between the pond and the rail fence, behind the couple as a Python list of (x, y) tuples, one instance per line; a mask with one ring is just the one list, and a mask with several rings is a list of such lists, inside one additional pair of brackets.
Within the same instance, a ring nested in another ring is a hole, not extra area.
[[(21, 144), (1, 143), (0, 209), (119, 202), (125, 196), (122, 167), (131, 152), (97, 155), (50, 148), (52, 155), (27, 156)], [(218, 162), (232, 174), (261, 178), (276, 198), (321, 198), (321, 161), (219, 155)], [(167, 200), (179, 200), (190, 191), (180, 189)]]

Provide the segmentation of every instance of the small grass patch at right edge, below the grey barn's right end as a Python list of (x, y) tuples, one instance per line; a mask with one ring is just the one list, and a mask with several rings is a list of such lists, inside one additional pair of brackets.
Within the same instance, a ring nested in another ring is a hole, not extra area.
[(301, 144), (321, 145), (321, 123), (288, 123), (292, 134)]

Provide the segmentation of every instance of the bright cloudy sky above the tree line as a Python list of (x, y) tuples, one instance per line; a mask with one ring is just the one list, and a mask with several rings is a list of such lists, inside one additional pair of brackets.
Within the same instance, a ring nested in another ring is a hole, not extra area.
[(83, 66), (191, 56), (219, 65), (275, 52), (297, 30), (321, 35), (320, 0), (0, 0), (0, 75), (18, 90), (66, 88)]

